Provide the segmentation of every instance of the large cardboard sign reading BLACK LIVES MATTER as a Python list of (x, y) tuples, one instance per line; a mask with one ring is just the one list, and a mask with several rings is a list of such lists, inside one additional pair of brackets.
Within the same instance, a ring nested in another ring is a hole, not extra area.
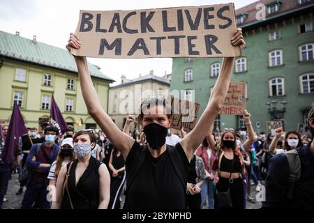
[(103, 58), (240, 56), (230, 39), (234, 4), (147, 10), (80, 10), (77, 56)]

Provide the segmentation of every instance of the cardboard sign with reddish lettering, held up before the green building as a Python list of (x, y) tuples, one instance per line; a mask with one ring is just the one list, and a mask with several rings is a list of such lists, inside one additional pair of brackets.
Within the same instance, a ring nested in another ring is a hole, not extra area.
[(244, 115), (246, 109), (246, 83), (230, 82), (220, 114)]

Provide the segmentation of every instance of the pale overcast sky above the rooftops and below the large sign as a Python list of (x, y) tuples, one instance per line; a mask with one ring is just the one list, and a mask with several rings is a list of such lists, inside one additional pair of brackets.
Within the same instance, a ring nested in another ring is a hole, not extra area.
[[(203, 6), (228, 3), (231, 0), (0, 0), (0, 30), (20, 31), (20, 36), (62, 47), (74, 32), (80, 10), (133, 10), (177, 6)], [(234, 0), (241, 8), (256, 0)], [(120, 82), (121, 75), (128, 79), (147, 75), (149, 70), (162, 76), (172, 72), (172, 59), (88, 59), (97, 64), (108, 77)]]

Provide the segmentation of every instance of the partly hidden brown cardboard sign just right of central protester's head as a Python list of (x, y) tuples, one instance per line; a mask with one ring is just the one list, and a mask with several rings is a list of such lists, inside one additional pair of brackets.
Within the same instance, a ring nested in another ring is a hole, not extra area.
[(197, 123), (197, 115), (200, 104), (179, 98), (171, 98), (171, 107), (174, 111), (171, 128), (181, 130), (184, 127), (186, 132), (193, 130)]

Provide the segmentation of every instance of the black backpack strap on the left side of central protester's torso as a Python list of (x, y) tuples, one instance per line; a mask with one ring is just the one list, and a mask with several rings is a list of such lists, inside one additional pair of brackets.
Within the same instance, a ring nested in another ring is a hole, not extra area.
[(137, 172), (140, 170), (140, 167), (142, 167), (142, 164), (144, 163), (145, 157), (147, 156), (148, 146), (147, 144), (144, 145), (144, 148), (142, 152), (140, 153), (140, 157), (135, 162), (134, 167), (127, 170), (126, 174), (126, 190), (124, 190), (124, 195), (126, 195), (126, 200), (124, 202), (124, 209), (127, 206), (128, 201), (128, 191), (130, 190), (130, 185), (135, 179), (135, 176)]

